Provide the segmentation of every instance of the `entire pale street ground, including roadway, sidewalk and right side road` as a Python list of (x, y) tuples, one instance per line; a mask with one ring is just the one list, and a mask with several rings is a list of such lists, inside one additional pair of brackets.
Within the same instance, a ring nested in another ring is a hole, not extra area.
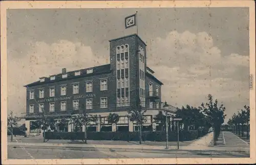
[[(223, 131), (220, 143), (209, 146), (212, 132), (189, 142), (138, 142), (88, 140), (48, 140), (41, 137), (8, 138), (9, 159), (68, 159), (68, 158), (227, 158), (249, 157), (249, 144), (231, 132)], [(207, 144), (208, 143), (208, 144)]]

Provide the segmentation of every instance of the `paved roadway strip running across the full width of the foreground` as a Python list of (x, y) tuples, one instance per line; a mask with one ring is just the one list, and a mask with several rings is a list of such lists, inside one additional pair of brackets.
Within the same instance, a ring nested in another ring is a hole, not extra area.
[(114, 150), (103, 151), (77, 151), (61, 149), (30, 149), (8, 147), (8, 159), (77, 159), (77, 158), (225, 158), (225, 157), (248, 157), (239, 152), (207, 152), (207, 151), (170, 151), (162, 152), (119, 152)]

